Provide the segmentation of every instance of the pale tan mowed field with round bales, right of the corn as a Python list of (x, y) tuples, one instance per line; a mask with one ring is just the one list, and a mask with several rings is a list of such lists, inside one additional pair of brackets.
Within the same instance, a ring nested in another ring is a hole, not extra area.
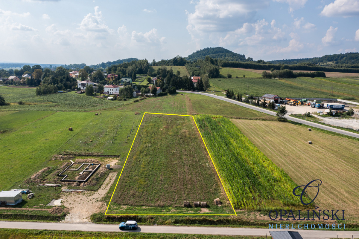
[[(322, 180), (314, 203), (320, 209), (345, 209), (359, 216), (358, 141), (282, 122), (232, 119), (244, 135), (298, 185)], [(313, 144), (308, 144), (311, 140)], [(314, 197), (316, 191), (308, 191)]]

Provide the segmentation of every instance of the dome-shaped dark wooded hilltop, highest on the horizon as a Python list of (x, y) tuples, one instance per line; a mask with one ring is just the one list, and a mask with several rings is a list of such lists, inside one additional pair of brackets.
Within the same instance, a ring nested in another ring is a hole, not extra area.
[(229, 51), (227, 49), (224, 49), (223, 47), (209, 47), (204, 48), (202, 50), (196, 51), (192, 54), (190, 54), (186, 60), (187, 61), (195, 61), (199, 59), (204, 59), (206, 56), (209, 56), (211, 58), (219, 58), (223, 59), (224, 61), (245, 61), (246, 56), (238, 53), (234, 53), (232, 51)]

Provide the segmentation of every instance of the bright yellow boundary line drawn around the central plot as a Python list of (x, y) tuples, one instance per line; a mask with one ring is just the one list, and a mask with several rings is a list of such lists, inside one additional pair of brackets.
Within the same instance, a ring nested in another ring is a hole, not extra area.
[(230, 202), (230, 205), (232, 206), (232, 209), (233, 209), (233, 211), (234, 211), (234, 214), (106, 214), (106, 213), (107, 213), (107, 210), (108, 210), (108, 207), (109, 207), (110, 204), (111, 204), (111, 200), (112, 200), (113, 194), (114, 194), (115, 191), (116, 191), (117, 184), (118, 184), (118, 182), (120, 181), (120, 178), (121, 178), (121, 175), (122, 175), (122, 171), (123, 171), (123, 169), (125, 168), (127, 159), (128, 159), (129, 156), (130, 156), (132, 146), (133, 146), (134, 143), (135, 143), (135, 139), (136, 139), (138, 130), (140, 129), (140, 126), (141, 126), (141, 123), (142, 123), (142, 120), (143, 120), (143, 117), (145, 116), (145, 114), (176, 115), (176, 114), (162, 114), (162, 113), (148, 113), (148, 112), (145, 112), (145, 113), (143, 114), (142, 119), (141, 119), (141, 122), (140, 122), (140, 125), (139, 125), (138, 128), (137, 128), (137, 132), (136, 132), (134, 141), (132, 142), (130, 151), (129, 151), (129, 153), (127, 154), (127, 158), (126, 158), (125, 164), (123, 164), (123, 167), (122, 167), (122, 170), (121, 170), (121, 173), (120, 173), (120, 177), (118, 177), (118, 180), (117, 180), (115, 189), (113, 190), (113, 193), (112, 193), (112, 195), (111, 195), (111, 199), (110, 199), (110, 201), (109, 201), (109, 203), (108, 203), (108, 205), (107, 205), (107, 209), (106, 209), (106, 212), (105, 212), (105, 216), (237, 216), (236, 210), (234, 210), (233, 204), (232, 204), (232, 202), (231, 202), (230, 199), (229, 199), (227, 190), (225, 189), (225, 187), (224, 187), (224, 185), (223, 185), (222, 179), (221, 179), (221, 177), (219, 176), (218, 170), (217, 170), (217, 168), (216, 168), (216, 166), (215, 166), (215, 164), (214, 164), (214, 162), (213, 162), (212, 156), (211, 156), (211, 154), (209, 153), (209, 150), (208, 150), (208, 148), (207, 148), (207, 145), (206, 145), (206, 143), (204, 142), (204, 139), (203, 139), (203, 137), (202, 137), (202, 134), (201, 134), (201, 132), (200, 132), (200, 129), (198, 128), (197, 122), (196, 122), (195, 117), (194, 117), (193, 115), (176, 115), (176, 116), (190, 116), (190, 117), (192, 117), (192, 119), (195, 121), (197, 130), (198, 130), (198, 132), (199, 132), (200, 135), (201, 135), (201, 138), (202, 138), (202, 141), (203, 141), (203, 143), (204, 143), (204, 146), (206, 147), (207, 152), (208, 152), (208, 154), (209, 154), (209, 157), (211, 158), (211, 161), (212, 161), (212, 163), (213, 163), (213, 166), (214, 166), (214, 168), (216, 169), (217, 175), (218, 175), (218, 177), (219, 177), (219, 180), (220, 180), (221, 183), (222, 183), (223, 189), (224, 189), (224, 191), (225, 191), (225, 193), (226, 193), (226, 195), (227, 195), (227, 198), (228, 198), (228, 200), (229, 200), (229, 202)]

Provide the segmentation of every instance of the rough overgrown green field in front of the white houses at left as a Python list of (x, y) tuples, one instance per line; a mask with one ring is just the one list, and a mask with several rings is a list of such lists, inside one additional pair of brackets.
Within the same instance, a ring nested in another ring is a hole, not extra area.
[[(110, 101), (85, 94), (76, 94), (75, 91), (64, 94), (51, 94), (43, 97), (36, 96), (35, 90), (35, 88), (1, 86), (0, 94), (5, 98), (5, 101), (11, 103), (11, 105), (0, 106), (0, 111), (90, 111), (121, 106), (134, 101), (134, 99), (127, 101)], [(18, 105), (17, 103), (19, 101), (23, 101), (25, 104)]]

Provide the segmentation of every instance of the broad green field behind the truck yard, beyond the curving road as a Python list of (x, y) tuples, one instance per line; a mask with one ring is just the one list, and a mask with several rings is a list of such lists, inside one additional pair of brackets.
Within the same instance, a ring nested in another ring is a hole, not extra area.
[[(211, 86), (222, 90), (233, 89), (244, 94), (262, 96), (264, 94), (274, 94), (280, 97), (298, 98), (340, 98), (359, 100), (359, 86), (348, 85), (345, 83), (330, 82), (317, 78), (298, 77), (292, 79), (210, 79)], [(331, 86), (334, 93), (331, 95)]]

